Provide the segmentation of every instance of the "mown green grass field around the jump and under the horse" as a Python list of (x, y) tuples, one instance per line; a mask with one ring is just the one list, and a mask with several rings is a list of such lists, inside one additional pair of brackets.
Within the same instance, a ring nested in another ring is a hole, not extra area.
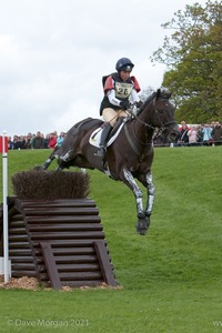
[[(11, 175), (48, 153), (9, 152), (10, 194)], [(135, 233), (131, 191), (89, 173), (122, 289), (0, 289), (0, 331), (222, 332), (222, 147), (155, 149), (157, 196), (145, 236)]]

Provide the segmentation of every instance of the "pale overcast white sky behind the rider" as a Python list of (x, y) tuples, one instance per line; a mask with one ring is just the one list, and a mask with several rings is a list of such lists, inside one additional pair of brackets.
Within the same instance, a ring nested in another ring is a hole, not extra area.
[(141, 89), (161, 87), (149, 57), (170, 21), (199, 0), (0, 0), (0, 131), (68, 131), (99, 118), (103, 74), (119, 58), (135, 64)]

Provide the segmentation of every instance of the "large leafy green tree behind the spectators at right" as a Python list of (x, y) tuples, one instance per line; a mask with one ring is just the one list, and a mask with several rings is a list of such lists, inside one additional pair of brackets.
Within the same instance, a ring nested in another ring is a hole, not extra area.
[(222, 4), (208, 1), (179, 10), (164, 24), (173, 30), (152, 62), (167, 65), (162, 84), (174, 95), (176, 120), (204, 123), (222, 120)]

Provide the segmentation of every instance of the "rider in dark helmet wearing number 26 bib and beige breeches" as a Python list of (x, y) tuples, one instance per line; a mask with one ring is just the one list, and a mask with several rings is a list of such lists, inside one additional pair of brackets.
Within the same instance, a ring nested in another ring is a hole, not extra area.
[(134, 77), (130, 73), (134, 64), (128, 58), (121, 58), (115, 64), (117, 72), (108, 75), (104, 82), (104, 97), (100, 105), (100, 115), (105, 123), (100, 139), (100, 148), (95, 155), (104, 159), (108, 137), (114, 127), (118, 118), (129, 117), (127, 110), (130, 107), (130, 100), (138, 108), (142, 105), (138, 92), (140, 85)]

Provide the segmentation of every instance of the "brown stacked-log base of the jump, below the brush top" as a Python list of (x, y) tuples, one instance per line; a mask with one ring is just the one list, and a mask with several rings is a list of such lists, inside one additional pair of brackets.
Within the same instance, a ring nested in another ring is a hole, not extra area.
[[(91, 199), (8, 199), (13, 278), (44, 286), (117, 286), (99, 210)], [(3, 251), (0, 210), (0, 255)]]

